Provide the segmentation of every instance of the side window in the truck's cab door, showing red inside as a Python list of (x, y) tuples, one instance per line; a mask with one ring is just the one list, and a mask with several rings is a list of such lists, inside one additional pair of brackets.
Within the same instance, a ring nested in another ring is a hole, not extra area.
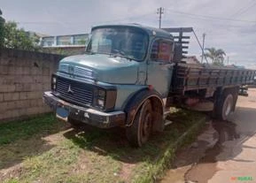
[(151, 61), (169, 63), (173, 61), (173, 42), (156, 40), (151, 48)]

